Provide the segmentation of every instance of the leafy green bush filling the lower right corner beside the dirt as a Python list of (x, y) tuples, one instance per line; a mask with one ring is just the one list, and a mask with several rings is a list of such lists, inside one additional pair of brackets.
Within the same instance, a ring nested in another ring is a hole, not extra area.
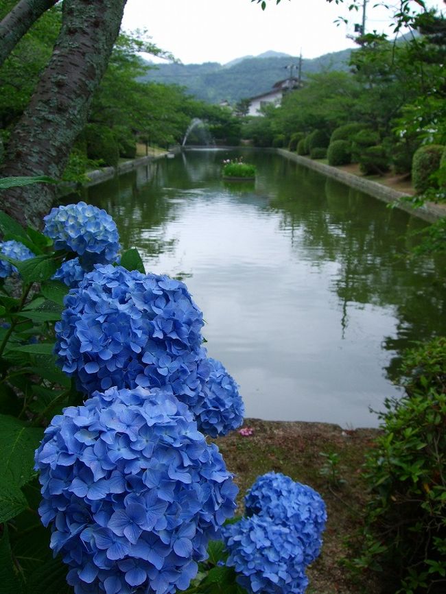
[(445, 370), (444, 337), (406, 355), (407, 394), (386, 401), (366, 458), (371, 501), (353, 566), (377, 571), (386, 593), (445, 592)]

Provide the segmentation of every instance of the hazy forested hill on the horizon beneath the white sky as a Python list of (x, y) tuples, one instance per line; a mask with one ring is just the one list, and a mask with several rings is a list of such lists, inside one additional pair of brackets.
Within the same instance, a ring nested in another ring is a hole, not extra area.
[[(157, 69), (149, 71), (145, 80), (179, 84), (197, 99), (219, 103), (224, 99), (234, 104), (239, 99), (255, 97), (270, 90), (278, 80), (290, 75), (286, 69), (295, 65), (297, 75), (298, 58), (266, 52), (257, 58), (246, 57), (228, 64), (206, 62), (204, 64), (156, 64)], [(351, 49), (325, 54), (312, 60), (303, 60), (303, 77), (309, 73), (324, 70), (347, 70)]]

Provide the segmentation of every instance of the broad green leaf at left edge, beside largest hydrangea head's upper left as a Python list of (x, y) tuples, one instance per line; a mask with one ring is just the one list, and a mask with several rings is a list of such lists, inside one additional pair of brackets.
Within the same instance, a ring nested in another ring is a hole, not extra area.
[(22, 486), (35, 474), (34, 451), (43, 429), (28, 427), (18, 418), (0, 415), (0, 490), (5, 484)]

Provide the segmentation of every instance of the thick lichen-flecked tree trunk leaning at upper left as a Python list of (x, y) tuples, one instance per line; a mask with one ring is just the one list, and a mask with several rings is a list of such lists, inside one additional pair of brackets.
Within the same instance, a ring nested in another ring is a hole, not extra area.
[[(62, 176), (93, 93), (119, 33), (126, 0), (64, 0), (62, 28), (30, 105), (17, 124), (3, 176)], [(1, 193), (2, 209), (40, 226), (56, 187), (36, 184)]]

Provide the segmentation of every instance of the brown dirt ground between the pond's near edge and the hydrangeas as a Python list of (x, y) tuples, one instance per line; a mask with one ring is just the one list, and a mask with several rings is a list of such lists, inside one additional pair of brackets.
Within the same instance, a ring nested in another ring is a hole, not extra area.
[[(242, 436), (233, 431), (215, 440), (240, 488), (238, 512), (243, 512), (246, 489), (268, 471), (312, 486), (325, 500), (328, 520), (322, 554), (307, 571), (307, 594), (378, 594), (379, 587), (371, 578), (364, 576), (360, 583), (349, 578), (342, 559), (351, 555), (345, 539), (362, 523), (366, 489), (360, 469), (379, 430), (347, 431), (327, 423), (259, 419), (246, 419), (244, 427), (253, 429), (253, 434)], [(327, 458), (320, 453), (338, 454), (337, 478), (345, 482), (336, 484), (321, 475)]]

